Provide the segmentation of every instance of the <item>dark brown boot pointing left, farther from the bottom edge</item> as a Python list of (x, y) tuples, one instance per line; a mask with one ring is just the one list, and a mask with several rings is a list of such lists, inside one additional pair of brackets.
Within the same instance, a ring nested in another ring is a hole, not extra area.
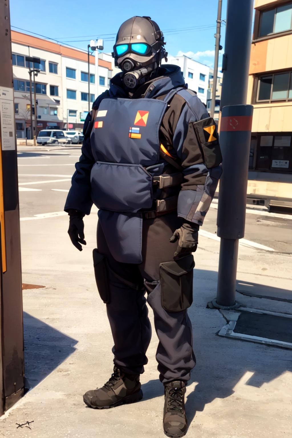
[(125, 374), (113, 368), (112, 377), (102, 388), (85, 392), (84, 403), (94, 409), (109, 409), (123, 403), (134, 403), (142, 399), (140, 375)]

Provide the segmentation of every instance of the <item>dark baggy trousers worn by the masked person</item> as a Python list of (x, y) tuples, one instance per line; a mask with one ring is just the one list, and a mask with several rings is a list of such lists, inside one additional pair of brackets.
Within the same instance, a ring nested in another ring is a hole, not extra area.
[(154, 313), (155, 330), (159, 339), (156, 360), (160, 380), (188, 381), (195, 366), (192, 348), (192, 325), (187, 311), (167, 312), (161, 304), (159, 264), (173, 260), (176, 243), (169, 242), (172, 233), (181, 226), (176, 214), (167, 214), (143, 221), (142, 256), (140, 265), (120, 263), (111, 255), (102, 227), (98, 225), (97, 246), (106, 256), (109, 267), (120, 277), (132, 283), (143, 284), (134, 290), (112, 277), (110, 304), (107, 315), (113, 334), (114, 364), (129, 374), (141, 374), (147, 364), (146, 351), (151, 339), (147, 302)]

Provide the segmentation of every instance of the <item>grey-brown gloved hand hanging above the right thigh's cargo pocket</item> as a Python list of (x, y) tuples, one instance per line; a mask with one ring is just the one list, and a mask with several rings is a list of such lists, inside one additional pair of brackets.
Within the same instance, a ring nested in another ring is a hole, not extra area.
[(174, 243), (179, 240), (178, 247), (174, 253), (175, 257), (183, 257), (186, 254), (195, 252), (198, 245), (198, 231), (200, 226), (197, 223), (185, 222), (175, 230), (169, 242)]

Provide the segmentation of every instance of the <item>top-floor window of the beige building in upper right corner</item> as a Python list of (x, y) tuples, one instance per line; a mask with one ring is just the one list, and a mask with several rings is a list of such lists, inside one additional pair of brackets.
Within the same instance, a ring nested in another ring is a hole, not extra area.
[(260, 14), (259, 37), (292, 29), (292, 3), (274, 7)]

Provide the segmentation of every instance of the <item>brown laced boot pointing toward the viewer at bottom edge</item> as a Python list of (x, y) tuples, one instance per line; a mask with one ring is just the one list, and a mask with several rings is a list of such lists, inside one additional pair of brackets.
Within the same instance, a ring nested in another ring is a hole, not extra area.
[(183, 381), (164, 385), (163, 429), (168, 437), (180, 438), (186, 434), (185, 393), (186, 385)]

